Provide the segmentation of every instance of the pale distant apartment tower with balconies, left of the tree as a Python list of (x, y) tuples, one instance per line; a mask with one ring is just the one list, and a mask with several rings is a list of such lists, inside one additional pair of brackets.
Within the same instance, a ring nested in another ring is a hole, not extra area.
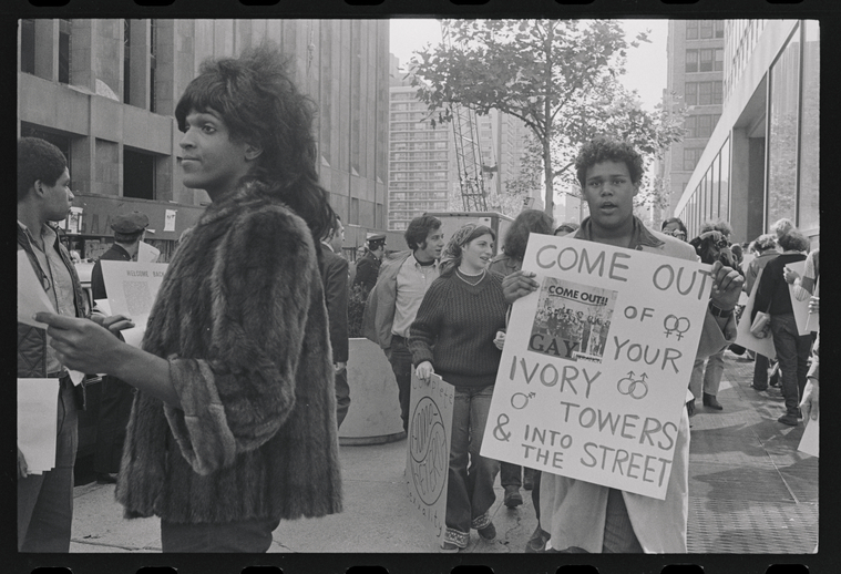
[(458, 187), (452, 126), (428, 120), (427, 104), (402, 79), (391, 55), (389, 100), (388, 229), (402, 232), (425, 212), (448, 209)]

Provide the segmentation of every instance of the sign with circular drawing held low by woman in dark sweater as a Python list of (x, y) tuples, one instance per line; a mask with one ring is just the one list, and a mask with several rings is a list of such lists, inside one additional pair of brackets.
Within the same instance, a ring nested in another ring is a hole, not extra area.
[(406, 485), (409, 501), (428, 530), (443, 542), (447, 479), (455, 388), (432, 375), (429, 383), (412, 372)]

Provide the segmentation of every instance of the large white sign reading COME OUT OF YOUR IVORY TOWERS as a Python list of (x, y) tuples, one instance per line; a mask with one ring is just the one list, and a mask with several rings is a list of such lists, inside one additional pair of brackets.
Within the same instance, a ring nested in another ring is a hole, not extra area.
[(710, 266), (532, 234), (523, 269), (482, 455), (665, 499)]

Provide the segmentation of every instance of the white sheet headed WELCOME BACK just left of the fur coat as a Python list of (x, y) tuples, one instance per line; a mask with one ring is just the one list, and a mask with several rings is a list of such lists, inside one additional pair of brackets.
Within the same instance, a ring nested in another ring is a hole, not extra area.
[(133, 328), (121, 332), (125, 342), (140, 347), (152, 304), (155, 303), (168, 264), (110, 260), (100, 263), (111, 314), (124, 315), (134, 322)]

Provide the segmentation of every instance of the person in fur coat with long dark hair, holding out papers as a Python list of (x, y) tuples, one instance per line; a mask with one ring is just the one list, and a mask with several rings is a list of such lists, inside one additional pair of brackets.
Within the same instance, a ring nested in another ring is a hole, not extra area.
[(39, 315), (69, 367), (139, 389), (116, 498), (164, 552), (265, 552), (280, 519), (341, 511), (318, 242), (314, 110), (269, 45), (206, 62), (175, 110), (184, 185), (213, 203), (180, 245), (142, 350)]

